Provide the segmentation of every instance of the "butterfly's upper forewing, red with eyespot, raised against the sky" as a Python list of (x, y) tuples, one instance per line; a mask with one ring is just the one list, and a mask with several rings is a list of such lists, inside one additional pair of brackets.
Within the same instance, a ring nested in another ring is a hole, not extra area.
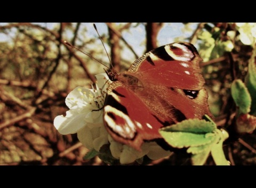
[(199, 68), (196, 48), (188, 42), (174, 42), (158, 47), (138, 58), (130, 72), (142, 82), (180, 88), (200, 90), (205, 81)]

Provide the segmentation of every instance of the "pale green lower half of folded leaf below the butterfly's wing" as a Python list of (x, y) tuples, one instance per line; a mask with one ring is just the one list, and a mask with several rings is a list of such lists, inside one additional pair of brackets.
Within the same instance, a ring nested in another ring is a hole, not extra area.
[(188, 148), (202, 146), (214, 141), (215, 136), (205, 137), (205, 134), (187, 132), (166, 132), (159, 131), (163, 139), (174, 148)]

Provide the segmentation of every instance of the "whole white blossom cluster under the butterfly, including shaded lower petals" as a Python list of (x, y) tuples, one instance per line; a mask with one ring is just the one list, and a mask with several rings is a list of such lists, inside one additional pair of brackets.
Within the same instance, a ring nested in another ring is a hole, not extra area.
[(111, 81), (106, 73), (96, 75), (98, 80), (96, 89), (76, 87), (66, 98), (69, 110), (66, 116), (59, 115), (54, 119), (54, 126), (60, 134), (77, 133), (78, 140), (89, 150), (100, 151), (100, 148), (110, 143), (111, 155), (119, 159), (121, 164), (131, 164), (135, 160), (147, 155), (156, 160), (170, 156), (170, 151), (165, 151), (156, 142), (145, 142), (141, 151), (116, 142), (108, 134), (103, 125), (103, 104), (107, 88)]

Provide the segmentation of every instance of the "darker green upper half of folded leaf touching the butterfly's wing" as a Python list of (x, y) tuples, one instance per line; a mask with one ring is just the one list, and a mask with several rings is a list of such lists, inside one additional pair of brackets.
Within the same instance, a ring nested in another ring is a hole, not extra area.
[(160, 131), (166, 132), (188, 132), (196, 134), (204, 134), (213, 132), (217, 126), (205, 119), (186, 119), (174, 125), (163, 127)]

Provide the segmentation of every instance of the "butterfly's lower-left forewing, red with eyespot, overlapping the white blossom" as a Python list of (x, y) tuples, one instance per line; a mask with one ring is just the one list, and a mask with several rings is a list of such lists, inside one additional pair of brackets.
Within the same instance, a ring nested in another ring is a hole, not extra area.
[[(118, 142), (140, 150), (143, 140), (161, 138), (163, 124), (145, 103), (121, 82), (115, 84), (105, 101), (103, 122)], [(112, 85), (113, 86), (113, 85)]]

